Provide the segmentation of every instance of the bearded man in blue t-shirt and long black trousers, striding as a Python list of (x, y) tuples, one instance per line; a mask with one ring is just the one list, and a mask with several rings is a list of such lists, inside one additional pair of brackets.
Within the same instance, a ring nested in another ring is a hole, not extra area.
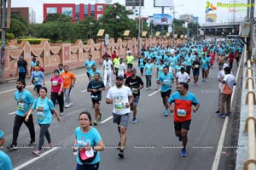
[(9, 150), (17, 150), (17, 139), (20, 132), (20, 127), (24, 122), (26, 127), (30, 133), (30, 143), (29, 146), (33, 146), (35, 144), (35, 127), (33, 122), (33, 117), (29, 116), (28, 120), (25, 121), (26, 112), (29, 111), (34, 99), (32, 94), (24, 89), (26, 87), (26, 83), (24, 79), (18, 79), (16, 82), (17, 91), (15, 91), (15, 101), (17, 102), (17, 111), (15, 116), (15, 125), (13, 129), (13, 142), (7, 149)]

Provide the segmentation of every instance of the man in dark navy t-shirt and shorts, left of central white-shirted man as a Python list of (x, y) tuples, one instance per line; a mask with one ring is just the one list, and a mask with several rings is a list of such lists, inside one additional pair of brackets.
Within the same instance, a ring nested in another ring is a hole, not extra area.
[(99, 73), (94, 73), (94, 80), (91, 80), (87, 86), (87, 92), (90, 92), (90, 99), (95, 109), (95, 120), (93, 124), (96, 126), (98, 121), (102, 119), (100, 111), (100, 101), (102, 100), (102, 91), (105, 90), (104, 83), (100, 80)]

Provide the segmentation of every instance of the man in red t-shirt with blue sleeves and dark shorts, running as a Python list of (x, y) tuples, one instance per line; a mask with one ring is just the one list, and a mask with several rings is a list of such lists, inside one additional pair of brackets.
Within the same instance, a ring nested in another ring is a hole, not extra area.
[[(186, 157), (186, 145), (188, 142), (188, 131), (191, 122), (191, 111), (196, 112), (200, 106), (198, 99), (195, 94), (190, 93), (189, 84), (186, 82), (180, 82), (177, 85), (177, 92), (172, 94), (168, 99), (169, 110), (174, 112), (174, 129), (175, 134), (179, 141), (182, 141), (183, 149), (181, 150), (181, 156)], [(172, 107), (174, 103), (174, 107)], [(193, 108), (191, 105), (194, 105)]]

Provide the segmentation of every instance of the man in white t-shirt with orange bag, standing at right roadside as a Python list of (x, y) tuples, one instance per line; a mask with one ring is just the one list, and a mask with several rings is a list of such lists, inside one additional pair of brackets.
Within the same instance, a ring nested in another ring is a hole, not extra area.
[[(220, 100), (220, 113), (219, 118), (230, 116), (231, 111), (231, 96), (233, 94), (234, 85), (236, 85), (235, 77), (231, 74), (230, 67), (224, 68), (225, 76), (221, 82), (224, 84), (224, 90)], [(224, 105), (226, 104), (226, 112), (224, 111)]]

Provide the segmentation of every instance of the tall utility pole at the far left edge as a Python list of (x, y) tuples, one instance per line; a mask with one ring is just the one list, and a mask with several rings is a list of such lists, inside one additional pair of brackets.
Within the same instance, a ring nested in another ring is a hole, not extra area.
[[(2, 9), (2, 45), (1, 45), (1, 66), (0, 66), (0, 82), (4, 82), (4, 54), (5, 54), (5, 32), (6, 32), (6, 2), (3, 1), (3, 9)], [(2, 7), (1, 7), (2, 8)]]

